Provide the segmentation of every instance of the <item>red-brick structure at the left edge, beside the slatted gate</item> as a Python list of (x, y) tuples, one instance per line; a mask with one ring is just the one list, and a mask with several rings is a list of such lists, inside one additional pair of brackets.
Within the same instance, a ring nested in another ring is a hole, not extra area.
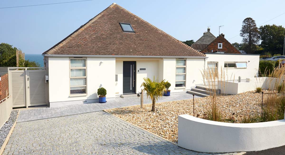
[(0, 67), (0, 100), (5, 99), (8, 95), (8, 67)]

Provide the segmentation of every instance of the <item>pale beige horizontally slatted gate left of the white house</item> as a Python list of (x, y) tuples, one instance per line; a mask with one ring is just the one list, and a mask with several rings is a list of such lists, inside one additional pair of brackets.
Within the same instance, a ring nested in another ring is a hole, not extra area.
[(44, 68), (14, 67), (9, 69), (9, 93), (12, 94), (13, 108), (48, 104), (46, 70)]

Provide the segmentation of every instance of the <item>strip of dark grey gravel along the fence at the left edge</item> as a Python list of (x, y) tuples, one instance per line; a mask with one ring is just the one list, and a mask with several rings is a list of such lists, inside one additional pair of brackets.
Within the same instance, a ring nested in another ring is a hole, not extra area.
[(0, 148), (2, 147), (8, 133), (11, 130), (11, 127), (17, 118), (18, 111), (19, 110), (12, 110), (8, 121), (0, 129)]

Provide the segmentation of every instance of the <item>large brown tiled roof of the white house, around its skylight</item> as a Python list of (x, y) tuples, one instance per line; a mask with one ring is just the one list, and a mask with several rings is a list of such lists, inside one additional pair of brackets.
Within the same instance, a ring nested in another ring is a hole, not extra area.
[[(123, 32), (120, 22), (135, 33)], [(43, 54), (205, 56), (115, 3)]]

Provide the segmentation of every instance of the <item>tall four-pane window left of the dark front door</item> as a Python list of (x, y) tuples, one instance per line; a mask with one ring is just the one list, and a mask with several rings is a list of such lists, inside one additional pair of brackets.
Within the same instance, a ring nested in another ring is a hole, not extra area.
[(70, 95), (87, 94), (86, 58), (70, 58)]

